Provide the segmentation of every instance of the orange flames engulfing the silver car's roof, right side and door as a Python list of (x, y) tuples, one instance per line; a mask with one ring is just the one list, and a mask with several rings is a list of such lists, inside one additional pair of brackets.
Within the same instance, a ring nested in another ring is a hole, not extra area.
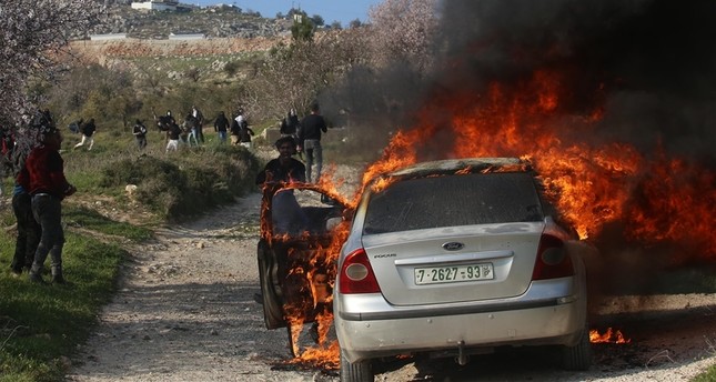
[[(421, 160), (520, 157), (534, 164), (547, 197), (583, 240), (619, 222), (625, 239), (635, 244), (688, 248), (670, 259), (673, 264), (716, 260), (714, 172), (669, 158), (660, 147), (645, 155), (625, 142), (591, 140), (591, 129), (603, 111), (596, 107), (584, 115), (565, 117), (561, 107), (565, 94), (559, 74), (537, 71), (516, 89), (494, 83), (486, 94), (434, 97), (421, 109), (417, 120), (422, 122), (396, 132), (383, 157), (367, 167), (351, 204), (357, 203), (361, 190), (374, 175)], [(452, 117), (432, 118), (446, 114)], [(321, 187), (336, 190), (331, 177), (323, 179)], [(330, 248), (319, 251), (315, 261), (332, 263), (346, 231), (347, 224)], [(303, 322), (301, 318), (288, 319)], [(330, 310), (316, 320), (323, 322), (321, 346), (306, 350), (295, 362), (320, 360), (322, 366), (336, 366), (337, 346), (325, 343)]]

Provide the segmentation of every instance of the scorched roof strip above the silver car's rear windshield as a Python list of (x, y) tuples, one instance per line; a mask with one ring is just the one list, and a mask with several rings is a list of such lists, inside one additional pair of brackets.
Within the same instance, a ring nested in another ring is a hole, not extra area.
[(391, 178), (413, 178), (441, 173), (448, 174), (457, 171), (482, 172), (487, 169), (528, 171), (532, 167), (528, 161), (520, 158), (461, 158), (415, 163), (392, 171), (386, 175)]

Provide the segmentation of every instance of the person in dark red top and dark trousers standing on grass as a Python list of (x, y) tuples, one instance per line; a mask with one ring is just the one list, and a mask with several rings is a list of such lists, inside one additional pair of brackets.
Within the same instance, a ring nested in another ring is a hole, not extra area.
[(44, 125), (40, 131), (40, 145), (30, 151), (26, 161), (27, 178), (19, 183), (32, 195), (32, 214), (42, 228), (40, 244), (34, 252), (30, 281), (44, 283), (42, 268), (48, 254), (51, 257), (52, 282), (62, 284), (62, 200), (77, 189), (64, 178), (64, 162), (60, 157), (62, 133), (54, 125)]

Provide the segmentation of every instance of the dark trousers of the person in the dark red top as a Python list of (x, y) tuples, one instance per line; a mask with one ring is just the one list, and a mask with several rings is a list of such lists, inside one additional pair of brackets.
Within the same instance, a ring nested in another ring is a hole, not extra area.
[(47, 193), (32, 197), (32, 214), (40, 223), (42, 234), (40, 244), (34, 252), (31, 274), (40, 274), (48, 253), (52, 260), (52, 269), (62, 268), (62, 247), (64, 245), (64, 231), (62, 230), (62, 201)]

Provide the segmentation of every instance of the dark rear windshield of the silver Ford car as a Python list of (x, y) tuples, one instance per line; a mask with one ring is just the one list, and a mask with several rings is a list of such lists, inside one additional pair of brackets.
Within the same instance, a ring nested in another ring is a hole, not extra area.
[(528, 173), (444, 175), (399, 181), (373, 194), (363, 232), (543, 219), (539, 197)]

